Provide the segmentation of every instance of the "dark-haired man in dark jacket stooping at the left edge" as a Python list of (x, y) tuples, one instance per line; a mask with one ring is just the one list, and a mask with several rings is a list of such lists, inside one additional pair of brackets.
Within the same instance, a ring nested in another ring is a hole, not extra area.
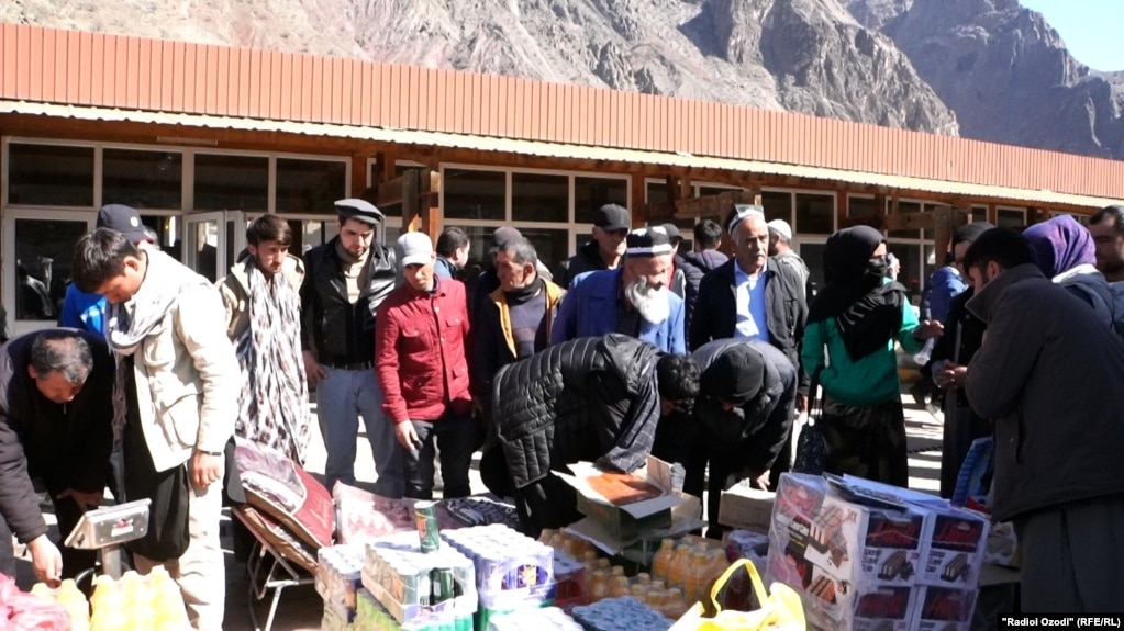
[(114, 445), (114, 374), (105, 340), (76, 329), (0, 347), (0, 571), (15, 576), (8, 528), (30, 550), (38, 580), (93, 567), (92, 551), (60, 552), (47, 538), (31, 479), (45, 483), (63, 537), (98, 505)]

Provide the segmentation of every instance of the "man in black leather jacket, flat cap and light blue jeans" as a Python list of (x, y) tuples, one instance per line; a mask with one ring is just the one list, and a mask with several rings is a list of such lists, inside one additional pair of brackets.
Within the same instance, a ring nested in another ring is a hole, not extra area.
[(383, 216), (370, 202), (335, 204), (339, 235), (305, 254), (300, 287), (301, 348), (309, 385), (317, 388), (317, 415), (327, 449), (326, 485), (355, 483), (355, 440), (362, 414), (379, 473), (375, 492), (401, 497), (406, 491), (401, 452), (382, 411), (375, 377), (374, 318), (395, 289), (395, 250), (375, 239)]

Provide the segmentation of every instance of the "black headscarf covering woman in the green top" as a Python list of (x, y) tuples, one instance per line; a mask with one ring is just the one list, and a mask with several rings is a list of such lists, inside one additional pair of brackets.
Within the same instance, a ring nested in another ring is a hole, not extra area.
[(886, 283), (885, 264), (870, 260), (882, 241), (878, 230), (855, 226), (832, 235), (824, 247), (826, 286), (816, 294), (808, 322), (834, 318), (852, 359), (883, 348), (901, 328), (906, 289)]

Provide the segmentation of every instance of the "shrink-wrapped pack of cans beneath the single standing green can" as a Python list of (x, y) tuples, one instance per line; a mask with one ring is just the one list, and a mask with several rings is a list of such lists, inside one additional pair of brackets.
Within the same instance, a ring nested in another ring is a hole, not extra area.
[[(439, 585), (441, 580), (435, 577), (443, 573), (450, 585)], [(373, 601), (404, 629), (472, 629), (478, 601), (475, 567), (451, 546), (423, 552), (414, 532), (375, 539), (365, 547), (362, 582)], [(452, 588), (452, 597), (435, 602), (435, 594), (446, 588)], [(356, 598), (362, 596), (362, 591), (356, 594)], [(365, 629), (357, 623), (355, 627)]]

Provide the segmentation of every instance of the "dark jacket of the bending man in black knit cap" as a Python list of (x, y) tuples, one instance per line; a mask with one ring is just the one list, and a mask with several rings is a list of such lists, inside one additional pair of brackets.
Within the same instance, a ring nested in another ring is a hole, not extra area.
[(722, 403), (700, 396), (695, 405), (698, 440), (716, 451), (736, 451), (740, 465), (768, 470), (783, 448), (792, 428), (797, 372), (788, 357), (759, 340), (719, 339), (695, 351), (695, 360), (706, 369), (734, 346), (749, 346), (764, 356), (765, 374), (761, 392), (742, 408), (724, 411)]

